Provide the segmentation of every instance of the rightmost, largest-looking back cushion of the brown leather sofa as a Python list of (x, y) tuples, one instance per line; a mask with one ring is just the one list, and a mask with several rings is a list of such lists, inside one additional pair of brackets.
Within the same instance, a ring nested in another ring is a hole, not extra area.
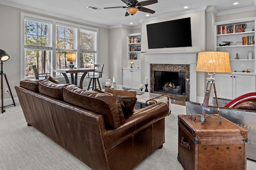
[(114, 95), (68, 85), (63, 88), (63, 99), (70, 104), (101, 114), (107, 127), (117, 128), (125, 122), (119, 99)]

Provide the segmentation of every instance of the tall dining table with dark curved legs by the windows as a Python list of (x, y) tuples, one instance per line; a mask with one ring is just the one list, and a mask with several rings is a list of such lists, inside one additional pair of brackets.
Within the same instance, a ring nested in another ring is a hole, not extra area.
[(76, 86), (77, 86), (78, 73), (82, 72), (83, 74), (80, 78), (80, 84), (79, 84), (79, 88), (81, 88), (81, 89), (83, 89), (83, 81), (84, 81), (84, 77), (86, 76), (86, 74), (88, 72), (94, 72), (94, 71), (95, 71), (94, 68), (72, 68), (72, 69), (71, 68), (56, 68), (56, 69), (53, 69), (53, 72), (62, 73), (67, 84), (70, 83), (67, 74), (70, 74), (71, 84), (74, 84)]

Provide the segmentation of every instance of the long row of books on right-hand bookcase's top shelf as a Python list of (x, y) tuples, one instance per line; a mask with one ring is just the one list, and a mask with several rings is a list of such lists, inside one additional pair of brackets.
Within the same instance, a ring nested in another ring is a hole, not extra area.
[(217, 34), (240, 33), (246, 31), (246, 23), (217, 27)]

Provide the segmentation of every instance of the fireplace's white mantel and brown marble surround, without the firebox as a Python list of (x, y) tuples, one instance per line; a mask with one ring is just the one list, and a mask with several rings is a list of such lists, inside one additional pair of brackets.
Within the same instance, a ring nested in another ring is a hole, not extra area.
[[(196, 102), (196, 56), (199, 51), (142, 53), (145, 57), (145, 76), (148, 91), (154, 92), (154, 70), (186, 72), (186, 96), (170, 94), (172, 99)], [(159, 93), (159, 92), (155, 92)], [(161, 93), (163, 94), (163, 93)]]

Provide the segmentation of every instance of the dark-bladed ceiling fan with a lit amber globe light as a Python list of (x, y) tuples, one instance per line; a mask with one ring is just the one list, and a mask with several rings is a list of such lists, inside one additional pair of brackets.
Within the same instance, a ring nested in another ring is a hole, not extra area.
[(126, 13), (125, 16), (128, 15), (134, 15), (136, 14), (137, 11), (142, 11), (142, 12), (147, 12), (150, 14), (154, 14), (155, 11), (150, 10), (148, 8), (142, 7), (142, 6), (147, 6), (150, 4), (155, 4), (158, 1), (157, 0), (146, 0), (146, 1), (142, 1), (142, 2), (138, 2), (137, 0), (121, 0), (122, 2), (124, 2), (127, 6), (116, 6), (116, 7), (108, 7), (108, 8), (104, 8), (104, 9), (109, 9), (109, 8), (127, 8), (126, 9)]

